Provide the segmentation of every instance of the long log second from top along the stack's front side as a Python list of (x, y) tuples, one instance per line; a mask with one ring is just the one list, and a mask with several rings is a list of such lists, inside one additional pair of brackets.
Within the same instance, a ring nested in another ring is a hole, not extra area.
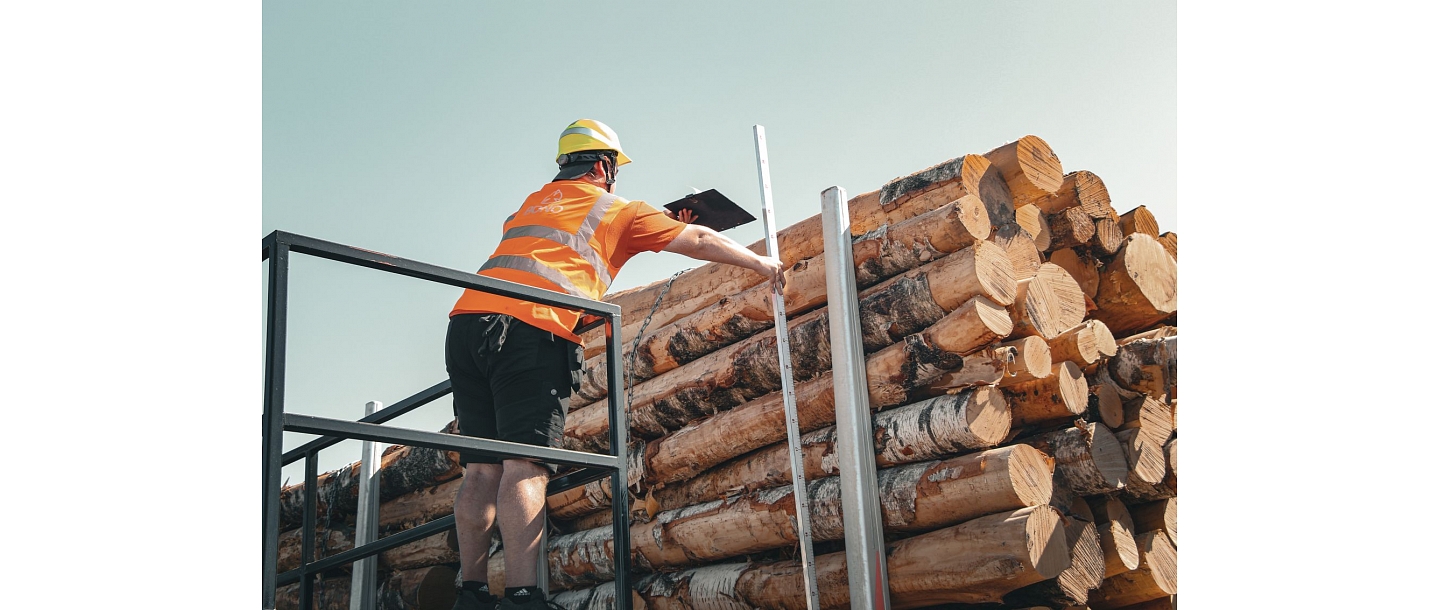
[[(906, 270), (973, 246), (991, 233), (985, 209), (975, 197), (962, 197), (894, 227), (883, 226), (854, 239), (857, 285), (867, 288)], [(984, 262), (986, 253), (981, 253)], [(973, 253), (971, 255), (973, 256)], [(994, 253), (991, 253), (994, 256)], [(981, 269), (981, 281), (985, 281)], [(953, 270), (952, 270), (953, 272)], [(825, 265), (821, 259), (798, 262), (786, 273), (785, 309), (801, 315), (825, 304)], [(1002, 285), (1005, 281), (1001, 281)], [(1007, 292), (1008, 293), (1008, 292)], [(691, 363), (726, 345), (775, 327), (770, 312), (770, 288), (762, 283), (724, 296), (720, 301), (662, 327), (648, 327), (638, 347), (624, 345), (624, 358), (635, 381)], [(998, 296), (1005, 299), (1008, 296)], [(632, 354), (634, 352), (634, 354)], [(631, 364), (634, 363), (634, 367)], [(608, 393), (608, 365), (603, 354), (586, 360), (580, 399), (600, 400)]]

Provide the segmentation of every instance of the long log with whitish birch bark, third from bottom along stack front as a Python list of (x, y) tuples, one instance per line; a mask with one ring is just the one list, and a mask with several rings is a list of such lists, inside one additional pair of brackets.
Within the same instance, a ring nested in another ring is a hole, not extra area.
[[(969, 388), (880, 411), (874, 416), (876, 465), (891, 468), (948, 455), (994, 447), (1009, 432), (1009, 410), (999, 391)], [(835, 429), (802, 436), (805, 476), (812, 481), (838, 475)], [(776, 442), (675, 485), (654, 489), (647, 498), (651, 515), (791, 482), (789, 446)]]

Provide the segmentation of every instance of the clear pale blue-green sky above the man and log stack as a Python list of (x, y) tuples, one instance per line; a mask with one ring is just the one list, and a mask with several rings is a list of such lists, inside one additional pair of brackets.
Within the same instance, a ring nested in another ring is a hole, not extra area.
[[(755, 124), (780, 226), (827, 187), (860, 194), (1034, 134), (1117, 210), (1179, 229), (1174, 3), (266, 1), (262, 95), (261, 235), (456, 269), (550, 180), (577, 118), (619, 132), (635, 163), (616, 191), (655, 206), (719, 188), (757, 216)], [(760, 223), (730, 235), (750, 243)], [(696, 265), (642, 255), (613, 289)], [(458, 293), (297, 256), (287, 410), (357, 419), (444, 380)], [(449, 419), (444, 400), (397, 423)], [(321, 469), (357, 456), (325, 450)]]

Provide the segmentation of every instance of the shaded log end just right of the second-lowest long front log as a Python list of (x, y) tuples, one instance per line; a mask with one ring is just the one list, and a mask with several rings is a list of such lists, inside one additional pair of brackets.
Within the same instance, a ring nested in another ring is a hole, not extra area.
[(1110, 493), (1125, 485), (1129, 463), (1110, 429), (1077, 422), (1074, 427), (1021, 439), (1056, 460), (1056, 476), (1079, 495)]

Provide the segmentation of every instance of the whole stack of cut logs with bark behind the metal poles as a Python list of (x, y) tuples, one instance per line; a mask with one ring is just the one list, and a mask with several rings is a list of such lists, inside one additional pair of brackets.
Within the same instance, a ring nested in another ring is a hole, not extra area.
[[(1063, 173), (1032, 135), (893, 180), (850, 210), (891, 606), (1174, 604), (1175, 233), (1143, 206), (1117, 214), (1099, 176)], [(779, 245), (821, 604), (848, 607), (819, 217)], [(608, 298), (624, 308), (635, 377), (636, 609), (805, 607), (768, 293), (756, 273), (706, 265), (668, 292)], [(599, 452), (603, 338), (585, 338), (566, 447)], [(382, 476), (386, 532), (451, 512), (454, 456), (392, 447)], [(353, 488), (353, 469), (320, 482), (325, 552), (351, 544)], [(282, 529), (300, 525), (300, 492), (287, 489)], [(609, 501), (608, 479), (549, 499), (564, 607), (615, 601)], [(292, 567), (298, 531), (282, 538)], [(383, 607), (449, 607), (420, 600), (445, 597), (433, 583), (454, 578), (454, 535), (380, 563)]]

